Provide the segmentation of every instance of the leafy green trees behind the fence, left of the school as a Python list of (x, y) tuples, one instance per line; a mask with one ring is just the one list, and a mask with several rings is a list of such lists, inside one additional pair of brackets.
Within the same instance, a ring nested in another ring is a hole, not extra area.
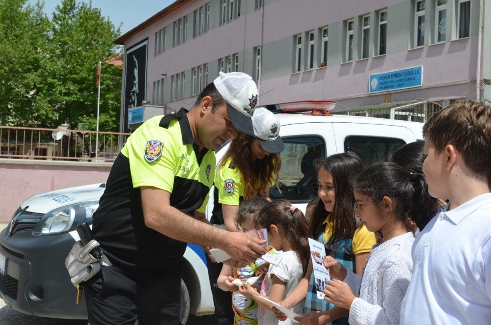
[(44, 2), (29, 6), (26, 1), (0, 0), (0, 37), (9, 50), (4, 53), (0, 45), (0, 73), (15, 71), (0, 83), (0, 96), (7, 99), (0, 103), (1, 124), (95, 125), (96, 73), (102, 61), (99, 130), (117, 131), (122, 73), (107, 62), (121, 51), (113, 44), (120, 28), (92, 2), (63, 0), (50, 21), (42, 13)]

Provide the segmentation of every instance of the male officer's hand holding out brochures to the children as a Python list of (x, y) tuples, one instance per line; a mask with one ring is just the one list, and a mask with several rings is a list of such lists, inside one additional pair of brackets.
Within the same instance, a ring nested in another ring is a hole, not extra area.
[(246, 233), (227, 232), (222, 249), (239, 262), (254, 262), (266, 254), (266, 250), (262, 247), (264, 244), (266, 244), (265, 240)]

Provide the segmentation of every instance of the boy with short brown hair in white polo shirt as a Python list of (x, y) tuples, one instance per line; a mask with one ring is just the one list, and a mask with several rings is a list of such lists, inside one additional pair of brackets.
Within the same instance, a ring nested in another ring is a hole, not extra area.
[(416, 237), (401, 324), (491, 324), (491, 108), (459, 102), (423, 134), (428, 192), (450, 203)]

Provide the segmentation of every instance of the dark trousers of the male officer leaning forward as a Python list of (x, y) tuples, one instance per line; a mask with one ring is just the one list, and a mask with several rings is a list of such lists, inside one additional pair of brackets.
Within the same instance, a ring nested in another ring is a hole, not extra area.
[(103, 266), (84, 285), (89, 325), (178, 325), (178, 280), (135, 281), (115, 266)]

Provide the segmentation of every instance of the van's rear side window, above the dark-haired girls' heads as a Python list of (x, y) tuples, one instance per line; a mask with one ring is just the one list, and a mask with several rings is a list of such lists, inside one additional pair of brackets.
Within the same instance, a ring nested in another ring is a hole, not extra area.
[(406, 142), (395, 137), (351, 135), (344, 140), (344, 151), (353, 152), (365, 163), (386, 162)]

